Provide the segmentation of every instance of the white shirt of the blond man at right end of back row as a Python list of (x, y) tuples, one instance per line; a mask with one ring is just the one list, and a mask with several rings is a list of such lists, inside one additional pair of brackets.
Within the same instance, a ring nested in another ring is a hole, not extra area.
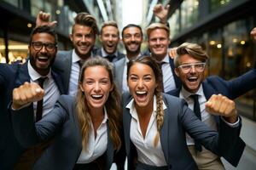
[(172, 68), (169, 64), (169, 55), (166, 54), (166, 57), (160, 61), (160, 63), (163, 63), (161, 66), (161, 70), (163, 73), (163, 83), (164, 83), (164, 91), (169, 92), (172, 89), (176, 88), (174, 77), (172, 74)]

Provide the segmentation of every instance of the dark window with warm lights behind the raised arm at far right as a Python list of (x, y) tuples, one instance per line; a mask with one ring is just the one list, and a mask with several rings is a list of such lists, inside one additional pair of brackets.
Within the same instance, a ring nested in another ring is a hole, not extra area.
[[(239, 77), (253, 68), (254, 43), (250, 37), (253, 29), (253, 19), (237, 20), (224, 26), (224, 78)], [(255, 90), (237, 99), (237, 104), (242, 108), (241, 114), (249, 118), (253, 117), (253, 96)], [(238, 108), (239, 109), (239, 108)]]

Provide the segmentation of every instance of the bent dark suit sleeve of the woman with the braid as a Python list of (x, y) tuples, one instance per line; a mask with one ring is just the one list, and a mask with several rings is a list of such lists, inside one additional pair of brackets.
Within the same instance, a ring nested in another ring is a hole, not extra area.
[(229, 155), (234, 144), (239, 140), (239, 127), (230, 127), (220, 120), (219, 131), (211, 130), (205, 123), (201, 122), (191, 111), (187, 105), (183, 104), (183, 112), (181, 114), (181, 122), (189, 135), (204, 145), (207, 150), (211, 150), (218, 156)]

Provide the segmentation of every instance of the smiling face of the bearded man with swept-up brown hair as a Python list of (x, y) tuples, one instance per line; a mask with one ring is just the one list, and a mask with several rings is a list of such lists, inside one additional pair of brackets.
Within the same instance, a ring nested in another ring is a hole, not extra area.
[(82, 59), (89, 58), (96, 41), (96, 35), (92, 29), (89, 26), (76, 24), (73, 26), (73, 33), (69, 37), (73, 42), (76, 54)]

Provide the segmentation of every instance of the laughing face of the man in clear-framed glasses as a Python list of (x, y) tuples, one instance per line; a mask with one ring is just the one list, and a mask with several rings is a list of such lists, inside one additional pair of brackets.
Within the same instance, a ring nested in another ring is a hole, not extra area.
[[(178, 59), (179, 65), (201, 63), (199, 59), (191, 57), (189, 54), (183, 54)], [(183, 88), (188, 92), (195, 94), (200, 88), (201, 82), (204, 79), (204, 70), (196, 71), (195, 67), (192, 67), (188, 73), (184, 73), (181, 68), (175, 68), (175, 73), (183, 83)]]

